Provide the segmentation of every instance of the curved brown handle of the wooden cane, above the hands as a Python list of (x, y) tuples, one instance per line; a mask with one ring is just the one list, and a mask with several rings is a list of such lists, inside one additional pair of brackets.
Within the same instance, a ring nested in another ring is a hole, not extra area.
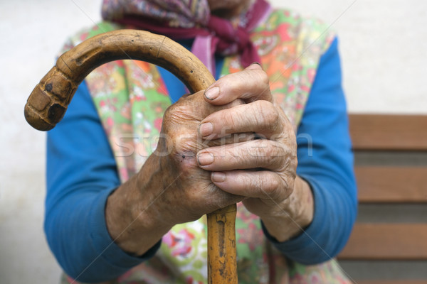
[(196, 56), (173, 40), (146, 31), (120, 30), (85, 40), (58, 58), (33, 89), (25, 106), (28, 124), (35, 129), (53, 129), (63, 118), (78, 85), (96, 67), (113, 60), (142, 60), (164, 67), (191, 92), (215, 82)]

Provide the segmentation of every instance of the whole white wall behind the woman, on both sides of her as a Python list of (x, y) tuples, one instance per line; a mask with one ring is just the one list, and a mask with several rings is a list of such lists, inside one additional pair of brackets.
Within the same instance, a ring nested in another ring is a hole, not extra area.
[[(427, 114), (426, 1), (273, 3), (333, 23), (350, 111)], [(57, 283), (42, 229), (45, 134), (26, 124), (23, 105), (67, 35), (100, 19), (99, 7), (100, 0), (0, 1), (0, 283)]]

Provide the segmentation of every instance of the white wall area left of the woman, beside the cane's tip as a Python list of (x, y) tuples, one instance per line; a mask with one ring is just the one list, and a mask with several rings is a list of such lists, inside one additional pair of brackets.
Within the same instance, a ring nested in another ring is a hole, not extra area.
[(100, 19), (100, 0), (73, 1), (0, 1), (0, 283), (58, 283), (43, 234), (45, 133), (23, 106), (67, 35)]

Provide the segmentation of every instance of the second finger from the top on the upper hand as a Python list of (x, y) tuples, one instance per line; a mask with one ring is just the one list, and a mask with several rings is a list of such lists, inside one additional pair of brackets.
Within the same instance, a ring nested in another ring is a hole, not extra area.
[(265, 138), (271, 138), (288, 135), (288, 131), (293, 133), (283, 111), (267, 101), (256, 101), (216, 111), (206, 116), (199, 125), (199, 135), (205, 139), (244, 132), (255, 132)]

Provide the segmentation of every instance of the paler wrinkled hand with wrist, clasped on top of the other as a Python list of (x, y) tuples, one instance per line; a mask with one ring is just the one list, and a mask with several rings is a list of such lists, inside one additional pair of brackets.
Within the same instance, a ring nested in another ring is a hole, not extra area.
[(312, 222), (310, 186), (296, 175), (297, 142), (292, 124), (275, 104), (268, 76), (260, 65), (227, 75), (205, 91), (206, 102), (223, 105), (236, 99), (246, 104), (216, 111), (199, 125), (206, 140), (232, 133), (255, 133), (258, 139), (205, 148), (197, 153), (199, 166), (211, 171), (221, 190), (245, 196), (273, 237), (285, 241)]

